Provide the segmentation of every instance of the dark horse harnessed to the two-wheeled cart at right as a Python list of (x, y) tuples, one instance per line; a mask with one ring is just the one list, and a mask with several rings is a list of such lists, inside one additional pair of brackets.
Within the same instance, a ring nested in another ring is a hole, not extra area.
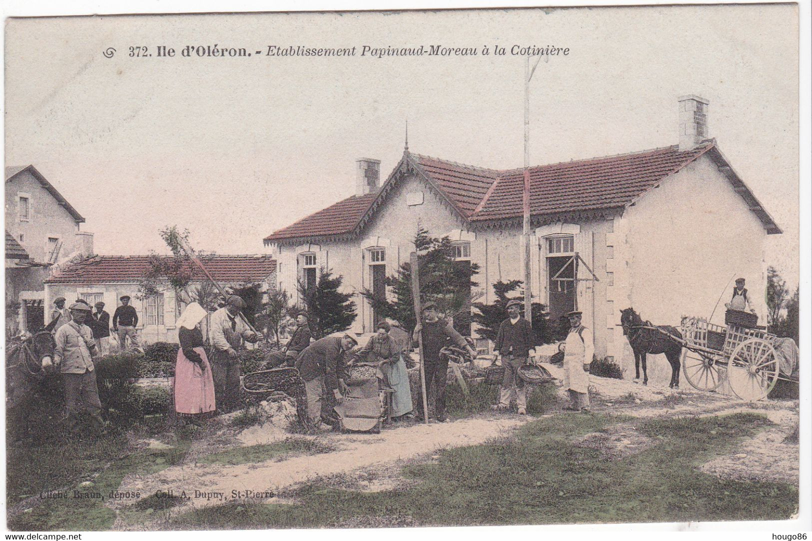
[(634, 352), (635, 381), (640, 379), (640, 364), (642, 362), (643, 385), (648, 385), (649, 375), (646, 372), (646, 355), (648, 353), (653, 355), (665, 353), (665, 357), (671, 364), (671, 383), (668, 383), (668, 387), (672, 389), (680, 388), (682, 344), (677, 340), (672, 340), (668, 335), (682, 340), (682, 333), (677, 331), (676, 327), (667, 325), (655, 327), (651, 322), (644, 322), (633, 308), (620, 310), (620, 325), (623, 327), (623, 334), (626, 335), (628, 344), (632, 346)]

